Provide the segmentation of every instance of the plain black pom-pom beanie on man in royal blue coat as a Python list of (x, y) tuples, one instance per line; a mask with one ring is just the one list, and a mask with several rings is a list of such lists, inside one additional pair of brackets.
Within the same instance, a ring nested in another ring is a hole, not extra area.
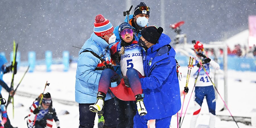
[(156, 26), (148, 26), (141, 30), (141, 36), (143, 36), (146, 41), (156, 44), (163, 31), (162, 27), (156, 28)]

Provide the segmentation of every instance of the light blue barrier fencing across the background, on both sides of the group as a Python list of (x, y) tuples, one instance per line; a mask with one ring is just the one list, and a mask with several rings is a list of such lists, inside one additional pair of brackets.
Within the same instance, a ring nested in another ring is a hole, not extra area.
[[(4, 52), (0, 52), (0, 54), (5, 55)], [(10, 53), (10, 62), (12, 61), (13, 53)], [(210, 57), (214, 59), (214, 57)], [(223, 69), (223, 57), (218, 58), (218, 63), (220, 68)], [(176, 53), (175, 59), (179, 62), (181, 66), (187, 66), (189, 57)], [(17, 61), (18, 67), (19, 66), (28, 66), (30, 65), (29, 72), (33, 72), (35, 69), (35, 65), (46, 65), (46, 71), (51, 71), (52, 64), (63, 64), (64, 68), (63, 71), (69, 70), (69, 64), (72, 62), (77, 62), (77, 58), (70, 57), (69, 51), (63, 51), (62, 59), (59, 58), (52, 58), (52, 52), (46, 51), (45, 59), (36, 60), (36, 52), (30, 51), (28, 53), (28, 61), (21, 61), (20, 60), (20, 53), (17, 53)], [(236, 71), (255, 71), (256, 72), (256, 58), (249, 58), (249, 57), (237, 57), (228, 55), (228, 69), (236, 70)]]

